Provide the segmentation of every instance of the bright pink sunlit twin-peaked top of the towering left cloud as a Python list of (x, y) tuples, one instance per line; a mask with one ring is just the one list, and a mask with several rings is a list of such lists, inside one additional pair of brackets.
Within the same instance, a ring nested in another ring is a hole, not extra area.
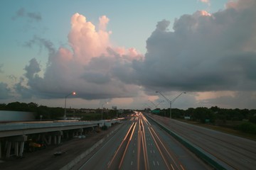
[(106, 54), (110, 46), (110, 33), (106, 31), (108, 21), (107, 16), (102, 16), (99, 19), (99, 30), (96, 30), (91, 22), (86, 21), (85, 16), (79, 13), (72, 16), (68, 41), (80, 62), (87, 64), (92, 57)]

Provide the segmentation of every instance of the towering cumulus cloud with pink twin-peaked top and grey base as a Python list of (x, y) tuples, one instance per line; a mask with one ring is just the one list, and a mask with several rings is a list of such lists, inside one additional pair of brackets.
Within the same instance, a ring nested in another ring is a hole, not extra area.
[(63, 97), (70, 91), (76, 91), (80, 98), (86, 99), (136, 96), (139, 86), (125, 84), (114, 75), (114, 70), (120, 67), (119, 64), (139, 60), (142, 55), (134, 49), (112, 47), (108, 21), (102, 16), (96, 29), (85, 16), (75, 13), (68, 35), (70, 49), (54, 50), (50, 42), (38, 37), (27, 42), (27, 45), (32, 42), (44, 45), (49, 57), (43, 77), (39, 76), (41, 69), (36, 59), (25, 67), (28, 84), (23, 86), (23, 91), (27, 89), (33, 96), (43, 98)]

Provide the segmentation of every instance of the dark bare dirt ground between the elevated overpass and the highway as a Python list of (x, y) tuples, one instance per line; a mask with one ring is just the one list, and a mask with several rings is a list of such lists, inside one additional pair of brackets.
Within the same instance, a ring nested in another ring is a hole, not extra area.
[[(86, 135), (85, 139), (73, 139), (63, 142), (58, 146), (50, 146), (36, 152), (24, 153), (23, 158), (11, 157), (0, 162), (0, 169), (3, 170), (22, 170), (22, 169), (61, 169), (63, 166), (72, 161), (75, 157), (92, 147), (97, 141), (106, 137), (118, 125), (112, 126), (108, 130)], [(59, 156), (54, 156), (55, 152), (63, 152)]]

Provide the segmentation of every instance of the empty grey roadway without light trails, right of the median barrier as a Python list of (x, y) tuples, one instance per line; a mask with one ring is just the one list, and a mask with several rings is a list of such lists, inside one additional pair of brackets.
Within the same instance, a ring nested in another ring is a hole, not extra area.
[(230, 169), (255, 169), (256, 167), (255, 141), (157, 115), (149, 116), (213, 155), (220, 162), (228, 164)]

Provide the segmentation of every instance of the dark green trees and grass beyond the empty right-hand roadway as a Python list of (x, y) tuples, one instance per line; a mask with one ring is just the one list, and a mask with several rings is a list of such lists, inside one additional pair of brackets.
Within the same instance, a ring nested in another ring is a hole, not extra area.
[[(170, 108), (159, 110), (161, 116), (170, 117)], [(234, 128), (242, 132), (248, 132), (256, 135), (256, 109), (231, 109), (198, 107), (188, 108), (186, 110), (172, 108), (171, 118), (190, 118), (198, 123), (211, 123), (221, 125), (227, 128)]]

